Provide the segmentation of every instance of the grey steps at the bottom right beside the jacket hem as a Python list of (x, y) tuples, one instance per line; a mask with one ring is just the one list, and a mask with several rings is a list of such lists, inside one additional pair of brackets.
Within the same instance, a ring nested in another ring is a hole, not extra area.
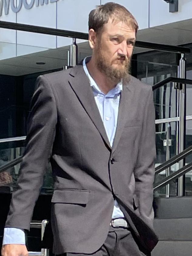
[(159, 198), (154, 229), (159, 242), (152, 256), (192, 256), (192, 197)]

